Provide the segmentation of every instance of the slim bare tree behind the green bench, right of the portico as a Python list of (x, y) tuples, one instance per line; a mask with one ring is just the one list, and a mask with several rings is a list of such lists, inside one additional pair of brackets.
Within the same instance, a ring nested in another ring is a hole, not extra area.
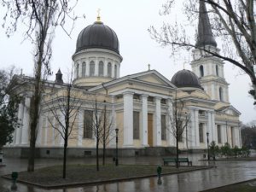
[[(176, 159), (178, 160), (178, 155), (179, 155), (178, 142), (180, 142), (183, 139), (183, 132), (188, 127), (189, 115), (185, 111), (183, 101), (181, 99), (177, 99), (177, 93), (173, 102), (173, 107), (172, 109), (169, 109), (167, 117), (169, 118), (171, 123), (171, 128), (167, 129), (167, 131), (170, 131), (172, 133), (172, 136), (176, 140)], [(186, 139), (187, 139), (187, 132), (186, 132)], [(176, 162), (176, 167), (178, 167), (177, 162)]]

